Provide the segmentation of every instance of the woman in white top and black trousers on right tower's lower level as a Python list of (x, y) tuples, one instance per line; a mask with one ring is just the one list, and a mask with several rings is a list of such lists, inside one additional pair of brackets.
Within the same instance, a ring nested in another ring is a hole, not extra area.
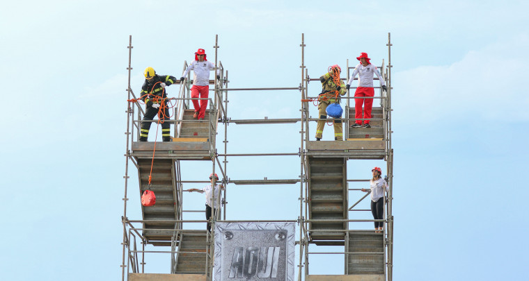
[[(373, 178), (370, 180), (370, 191), (362, 189), (364, 192), (371, 192), (371, 212), (373, 219), (384, 219), (384, 192), (388, 191), (388, 183), (381, 178), (382, 169), (374, 167), (372, 170)], [(382, 230), (384, 223), (381, 221), (374, 222), (376, 232)]]

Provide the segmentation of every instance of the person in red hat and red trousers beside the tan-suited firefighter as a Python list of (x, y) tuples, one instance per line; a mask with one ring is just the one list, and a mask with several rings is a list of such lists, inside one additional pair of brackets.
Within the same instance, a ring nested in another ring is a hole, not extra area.
[[(362, 119), (362, 105), (364, 105), (363, 108), (363, 119), (364, 120), (364, 128), (371, 128), (371, 125), (369, 124), (369, 119), (371, 119), (371, 109), (373, 107), (373, 99), (361, 99), (365, 96), (367, 97), (373, 97), (374, 96), (374, 87), (373, 87), (373, 76), (374, 74), (377, 74), (377, 77), (380, 80), (380, 85), (382, 87), (382, 90), (386, 91), (386, 82), (384, 79), (381, 78), (379, 69), (377, 69), (376, 66), (372, 65), (370, 62), (370, 58), (368, 58), (368, 53), (360, 53), (360, 56), (356, 58), (357, 60), (360, 60), (360, 63), (356, 65), (353, 74), (351, 74), (351, 78), (349, 78), (349, 81), (347, 82), (347, 90), (349, 90), (349, 87), (351, 87), (351, 83), (353, 83), (354, 76), (358, 74), (358, 87), (356, 87), (356, 91), (354, 92), (354, 97), (358, 97), (360, 99), (354, 99), (354, 118), (355, 119)], [(356, 120), (355, 123), (351, 126), (352, 128), (360, 128), (362, 127), (362, 120)]]

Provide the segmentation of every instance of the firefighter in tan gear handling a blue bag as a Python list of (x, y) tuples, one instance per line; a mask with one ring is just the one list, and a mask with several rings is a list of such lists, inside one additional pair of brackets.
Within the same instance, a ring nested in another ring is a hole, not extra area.
[[(325, 111), (327, 105), (330, 103), (340, 102), (340, 96), (343, 96), (347, 91), (345, 84), (340, 79), (340, 72), (342, 69), (338, 65), (329, 67), (329, 72), (319, 77), (319, 81), (322, 82), (322, 94), (318, 97), (318, 115), (320, 119), (327, 118), (327, 112)], [(316, 140), (322, 139), (323, 128), (325, 127), (325, 120), (319, 120), (316, 127)], [(333, 121), (334, 127), (334, 140), (342, 141), (342, 120)]]

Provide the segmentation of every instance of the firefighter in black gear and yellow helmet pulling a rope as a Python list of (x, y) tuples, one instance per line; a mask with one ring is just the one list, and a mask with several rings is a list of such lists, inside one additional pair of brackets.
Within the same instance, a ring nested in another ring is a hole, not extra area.
[[(168, 107), (163, 106), (163, 110), (160, 110), (160, 106), (167, 105), (168, 99), (165, 87), (175, 83), (176, 78), (171, 75), (158, 75), (152, 67), (147, 67), (145, 71), (143, 71), (143, 75), (145, 76), (145, 83), (141, 86), (141, 100), (145, 102), (145, 116), (143, 116), (143, 120), (152, 120), (156, 114), (159, 114), (159, 119), (168, 119)], [(162, 114), (165, 116), (161, 117)], [(147, 142), (151, 123), (152, 122), (141, 122), (140, 142)], [(171, 141), (171, 128), (169, 128), (169, 122), (161, 124), (161, 139), (164, 142)]]

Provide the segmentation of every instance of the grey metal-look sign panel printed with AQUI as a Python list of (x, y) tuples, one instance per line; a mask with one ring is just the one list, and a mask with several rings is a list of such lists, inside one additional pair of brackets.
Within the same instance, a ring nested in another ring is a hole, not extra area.
[(214, 280), (294, 281), (294, 223), (216, 223)]

